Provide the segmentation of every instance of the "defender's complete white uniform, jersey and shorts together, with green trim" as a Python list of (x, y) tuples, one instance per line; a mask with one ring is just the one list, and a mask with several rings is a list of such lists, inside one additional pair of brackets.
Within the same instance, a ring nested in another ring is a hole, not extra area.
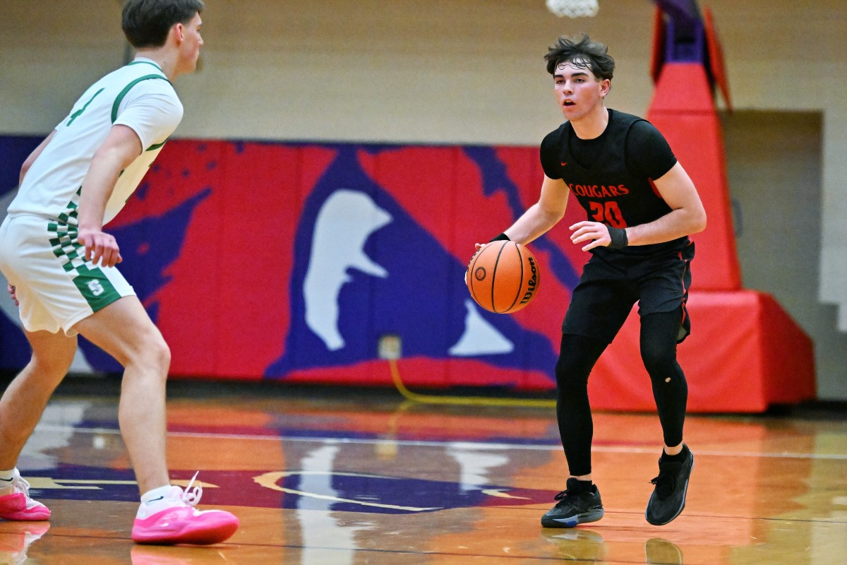
[[(134, 294), (118, 269), (86, 263), (79, 252), (81, 187), (113, 126), (135, 133), (145, 150), (119, 175), (106, 202), (102, 224), (107, 224), (136, 190), (180, 119), (182, 104), (163, 70), (151, 59), (136, 58), (97, 80), (56, 126), (21, 179), (0, 228), (3, 264), (8, 280), (18, 287), (26, 330), (75, 335), (81, 319), (119, 296)], [(21, 277), (25, 284), (17, 285)]]

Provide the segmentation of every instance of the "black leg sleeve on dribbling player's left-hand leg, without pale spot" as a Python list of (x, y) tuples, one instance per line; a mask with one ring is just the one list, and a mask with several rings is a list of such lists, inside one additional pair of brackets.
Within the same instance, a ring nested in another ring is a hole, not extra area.
[(556, 363), (556, 420), (570, 474), (591, 473), (594, 421), (588, 401), (588, 377), (606, 349), (606, 341), (584, 335), (562, 335)]

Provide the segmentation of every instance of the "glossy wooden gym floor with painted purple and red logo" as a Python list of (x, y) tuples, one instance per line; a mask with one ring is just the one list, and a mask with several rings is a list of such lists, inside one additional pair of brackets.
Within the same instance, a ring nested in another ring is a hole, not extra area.
[(19, 462), (53, 519), (0, 522), (0, 563), (847, 562), (844, 413), (689, 416), (688, 504), (664, 527), (644, 518), (659, 455), (656, 417), (595, 414), (606, 516), (542, 529), (566, 479), (552, 409), (187, 381), (170, 385), (172, 477), (187, 481), (199, 470), (199, 507), (235, 512), (241, 529), (218, 546), (136, 546), (137, 492), (115, 382), (60, 387)]

